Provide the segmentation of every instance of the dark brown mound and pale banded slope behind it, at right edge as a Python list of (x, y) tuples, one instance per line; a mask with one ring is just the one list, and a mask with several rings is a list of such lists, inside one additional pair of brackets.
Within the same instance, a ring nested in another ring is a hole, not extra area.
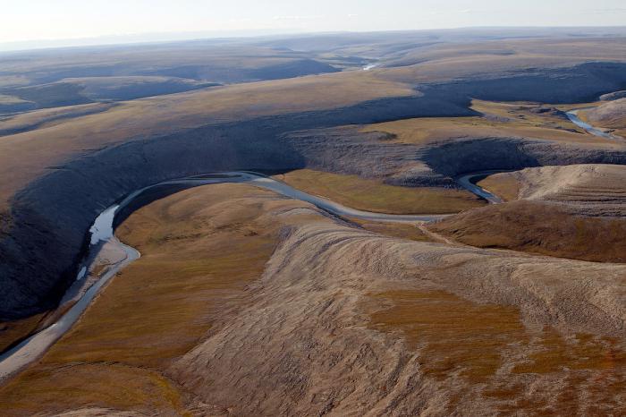
[(626, 262), (626, 169), (573, 165), (494, 174), (479, 185), (509, 197), (430, 226), (478, 247)]

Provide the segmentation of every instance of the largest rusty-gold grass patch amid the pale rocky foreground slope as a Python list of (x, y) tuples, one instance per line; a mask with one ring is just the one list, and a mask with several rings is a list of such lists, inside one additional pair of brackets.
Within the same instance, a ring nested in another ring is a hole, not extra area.
[(427, 375), (438, 379), (460, 371), (472, 382), (494, 375), (507, 345), (525, 340), (520, 312), (475, 304), (444, 291), (390, 291), (374, 295), (392, 307), (371, 314), (371, 326), (400, 331)]

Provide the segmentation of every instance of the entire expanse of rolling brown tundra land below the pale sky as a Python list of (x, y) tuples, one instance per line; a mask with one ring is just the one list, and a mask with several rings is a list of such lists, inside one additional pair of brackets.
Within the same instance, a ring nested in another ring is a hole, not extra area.
[(626, 415), (626, 32), (500, 31), (0, 63), (0, 416)]

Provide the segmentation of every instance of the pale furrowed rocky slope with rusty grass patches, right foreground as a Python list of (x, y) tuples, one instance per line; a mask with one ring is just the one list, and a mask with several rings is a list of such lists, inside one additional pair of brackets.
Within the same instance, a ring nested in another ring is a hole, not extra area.
[[(304, 225), (268, 263), (257, 303), (173, 372), (199, 396), (242, 414), (618, 412), (622, 336), (616, 345), (581, 336), (579, 345), (560, 320), (579, 326), (616, 302), (621, 272)], [(591, 295), (600, 288), (601, 296)], [(588, 297), (602, 307), (579, 304)], [(622, 316), (619, 307), (609, 310)], [(563, 334), (565, 360), (548, 349), (555, 370), (512, 372), (538, 361), (542, 340), (552, 336), (537, 324), (551, 321)], [(579, 353), (590, 356), (569, 370), (567, 358)], [(606, 355), (613, 365), (598, 367)], [(570, 379), (589, 382), (569, 387)]]

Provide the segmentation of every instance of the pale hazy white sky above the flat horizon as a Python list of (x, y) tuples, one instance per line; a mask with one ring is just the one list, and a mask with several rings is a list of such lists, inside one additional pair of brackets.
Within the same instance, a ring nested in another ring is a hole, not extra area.
[(0, 0), (0, 45), (146, 33), (620, 25), (625, 0)]

